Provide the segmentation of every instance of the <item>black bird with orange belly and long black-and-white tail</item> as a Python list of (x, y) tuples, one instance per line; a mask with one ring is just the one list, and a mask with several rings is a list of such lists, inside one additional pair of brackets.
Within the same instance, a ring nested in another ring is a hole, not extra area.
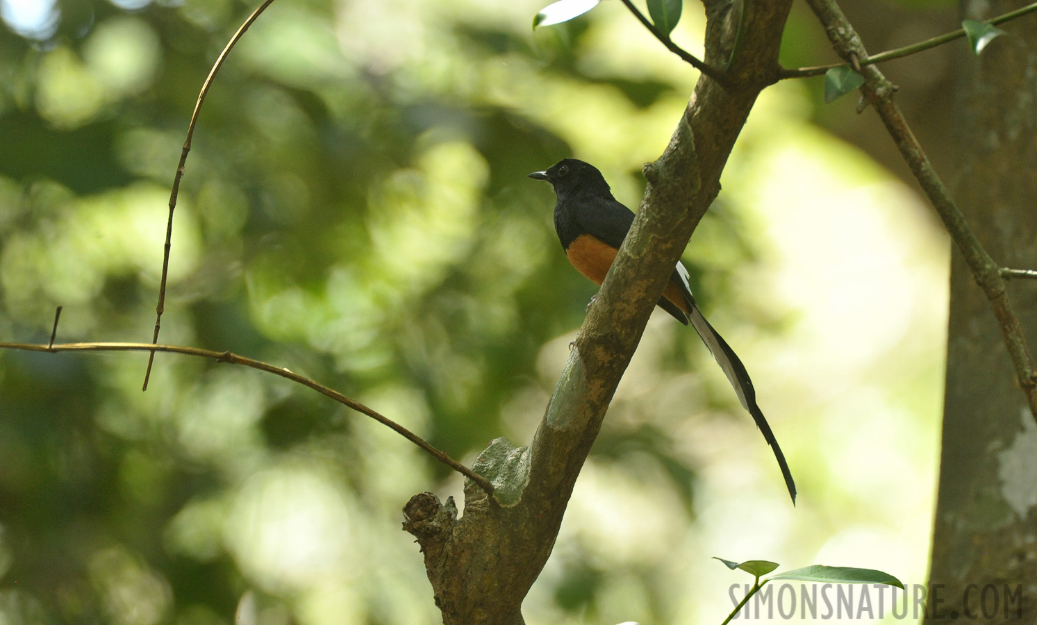
[[(534, 171), (529, 177), (551, 182), (554, 187), (558, 198), (555, 230), (565, 256), (578, 272), (600, 286), (634, 223), (634, 212), (613, 197), (605, 176), (589, 163), (563, 159), (544, 171)], [(712, 353), (741, 406), (752, 415), (774, 451), (785, 478), (785, 486), (792, 496), (792, 505), (795, 505), (792, 473), (770, 425), (756, 403), (753, 380), (731, 346), (702, 315), (692, 296), (688, 268), (679, 260), (663, 290), (658, 307), (684, 325), (691, 324)]]

